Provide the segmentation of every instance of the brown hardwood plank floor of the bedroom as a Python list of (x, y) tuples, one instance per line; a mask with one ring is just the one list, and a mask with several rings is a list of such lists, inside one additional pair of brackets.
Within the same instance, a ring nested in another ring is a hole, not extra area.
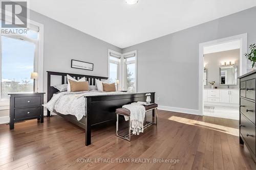
[[(131, 142), (116, 137), (111, 125), (94, 129), (88, 147), (84, 130), (59, 116), (45, 117), (44, 124), (18, 123), (14, 130), (0, 125), (0, 169), (256, 169), (239, 144), (238, 125), (232, 119), (159, 111), (158, 125)], [(130, 163), (119, 163), (125, 158)], [(136, 158), (152, 162), (132, 162)], [(154, 158), (179, 163), (153, 163)], [(79, 163), (84, 159), (91, 162)]]

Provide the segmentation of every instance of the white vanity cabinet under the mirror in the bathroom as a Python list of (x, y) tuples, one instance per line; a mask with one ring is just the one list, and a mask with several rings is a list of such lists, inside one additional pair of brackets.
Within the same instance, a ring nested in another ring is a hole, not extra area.
[(239, 89), (205, 89), (204, 102), (218, 105), (239, 104)]

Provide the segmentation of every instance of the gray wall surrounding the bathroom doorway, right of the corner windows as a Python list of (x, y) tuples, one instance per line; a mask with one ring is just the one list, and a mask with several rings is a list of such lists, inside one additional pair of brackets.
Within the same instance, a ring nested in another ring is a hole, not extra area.
[(256, 7), (124, 48), (137, 50), (138, 91), (156, 91), (162, 106), (198, 110), (199, 43), (243, 33), (255, 43), (255, 16)]

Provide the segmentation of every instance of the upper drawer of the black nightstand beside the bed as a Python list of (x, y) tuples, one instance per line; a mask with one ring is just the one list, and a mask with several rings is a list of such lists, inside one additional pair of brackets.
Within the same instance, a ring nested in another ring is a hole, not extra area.
[(15, 97), (14, 107), (40, 106), (40, 96)]

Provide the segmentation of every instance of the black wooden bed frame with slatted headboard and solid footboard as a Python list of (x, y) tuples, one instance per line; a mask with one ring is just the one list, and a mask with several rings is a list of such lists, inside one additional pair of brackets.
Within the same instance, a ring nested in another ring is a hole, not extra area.
[[(78, 74), (70, 74), (64, 72), (54, 72), (47, 71), (47, 102), (49, 102), (53, 94), (57, 93), (58, 90), (54, 88), (51, 84), (53, 81), (53, 77), (60, 77), (61, 84), (65, 84), (67, 82), (67, 75), (79, 80), (82, 77), (85, 77), (89, 82), (89, 85), (95, 85), (95, 79), (98, 80), (106, 80), (108, 77), (98, 77), (98, 76), (87, 76), (87, 75), (78, 75)], [(151, 103), (155, 103), (155, 92), (137, 92), (137, 93), (129, 93), (129, 92), (120, 92), (111, 94), (106, 93), (97, 94), (97, 95), (89, 95), (82, 96), (85, 100), (84, 116), (80, 120), (77, 120), (77, 117), (71, 114), (61, 114), (56, 110), (52, 112), (60, 115), (61, 117), (69, 120), (71, 123), (81, 127), (85, 130), (86, 137), (86, 145), (90, 145), (91, 140), (91, 128), (94, 126), (104, 126), (106, 123), (112, 123), (116, 121), (116, 113), (115, 110), (117, 108), (122, 107), (123, 105), (130, 104), (132, 102), (145, 102), (146, 101), (146, 93), (151, 93)], [(153, 112), (154, 114), (154, 112)], [(50, 111), (47, 111), (47, 116), (50, 116)], [(115, 133), (115, 132), (113, 132)]]

